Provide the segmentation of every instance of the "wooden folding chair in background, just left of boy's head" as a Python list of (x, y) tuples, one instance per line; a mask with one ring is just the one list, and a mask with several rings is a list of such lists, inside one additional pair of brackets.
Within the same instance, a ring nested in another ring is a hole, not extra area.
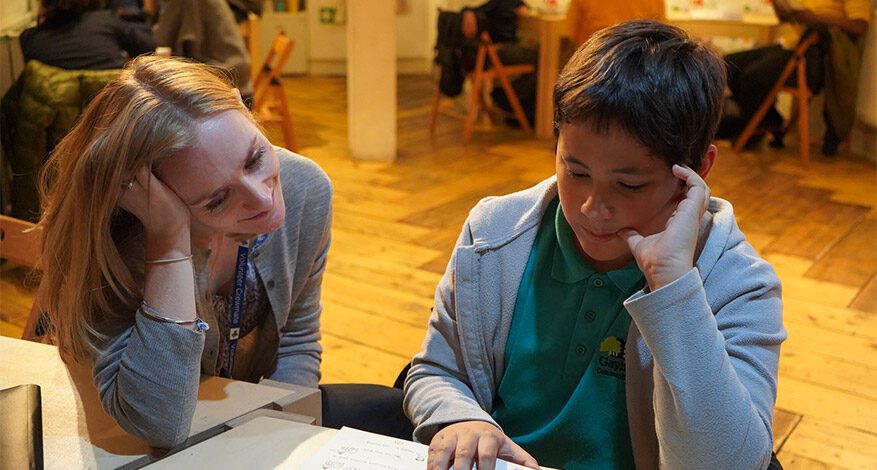
[[(490, 61), (489, 66), (487, 62), (488, 60)], [(472, 139), (472, 130), (475, 126), (475, 116), (478, 114), (478, 106), (479, 104), (484, 107), (487, 106), (484, 101), (484, 87), (494, 79), (499, 79), (500, 85), (502, 85), (502, 89), (505, 92), (506, 97), (508, 97), (515, 119), (517, 119), (521, 129), (524, 130), (525, 134), (529, 136), (533, 135), (533, 129), (530, 127), (530, 122), (524, 114), (524, 109), (521, 108), (521, 102), (518, 99), (515, 90), (512, 88), (509, 77), (534, 73), (535, 70), (536, 68), (532, 64), (503, 65), (502, 61), (499, 60), (499, 54), (496, 52), (496, 45), (490, 39), (490, 35), (487, 34), (487, 31), (481, 33), (481, 42), (478, 45), (478, 53), (475, 56), (475, 69), (469, 74), (469, 78), (472, 81), (472, 96), (469, 99), (469, 106), (466, 111), (465, 126), (463, 128), (463, 144), (468, 145), (469, 141)], [(438, 117), (441, 96), (441, 90), (439, 89), (438, 83), (436, 83), (435, 92), (433, 93), (432, 98), (432, 112), (429, 116), (430, 135), (435, 134), (435, 122)]]

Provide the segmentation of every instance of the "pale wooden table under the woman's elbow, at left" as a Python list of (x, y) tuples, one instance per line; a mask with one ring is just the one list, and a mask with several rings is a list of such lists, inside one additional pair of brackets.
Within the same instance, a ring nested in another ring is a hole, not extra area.
[[(163, 455), (128, 435), (103, 411), (88, 367), (67, 367), (54, 346), (0, 337), (0, 389), (28, 383), (41, 388), (46, 469), (138, 467)], [(184, 446), (212, 437), (227, 429), (225, 423), (261, 408), (319, 417), (320, 392), (204, 376)]]

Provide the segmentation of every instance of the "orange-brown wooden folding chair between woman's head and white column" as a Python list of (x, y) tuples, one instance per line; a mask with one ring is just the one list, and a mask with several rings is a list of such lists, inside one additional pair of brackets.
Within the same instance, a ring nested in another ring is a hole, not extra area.
[(298, 145), (293, 131), (292, 114), (283, 91), (281, 72), (294, 45), (295, 41), (281, 31), (274, 38), (271, 50), (253, 80), (253, 114), (261, 123), (279, 124), (286, 148), (292, 151), (296, 151)]

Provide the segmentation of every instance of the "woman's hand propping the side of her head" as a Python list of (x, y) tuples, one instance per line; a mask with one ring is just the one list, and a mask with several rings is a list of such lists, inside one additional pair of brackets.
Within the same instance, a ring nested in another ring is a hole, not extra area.
[(119, 207), (143, 224), (147, 258), (191, 250), (189, 207), (149, 167), (139, 169), (134, 180), (122, 187)]

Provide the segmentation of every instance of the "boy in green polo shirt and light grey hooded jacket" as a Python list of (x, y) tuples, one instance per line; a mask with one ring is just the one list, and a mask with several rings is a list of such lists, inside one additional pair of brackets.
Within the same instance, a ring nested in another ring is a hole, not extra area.
[(724, 77), (656, 21), (566, 65), (556, 176), (481, 201), (436, 290), (405, 386), (430, 469), (768, 465), (780, 283), (703, 180)]

